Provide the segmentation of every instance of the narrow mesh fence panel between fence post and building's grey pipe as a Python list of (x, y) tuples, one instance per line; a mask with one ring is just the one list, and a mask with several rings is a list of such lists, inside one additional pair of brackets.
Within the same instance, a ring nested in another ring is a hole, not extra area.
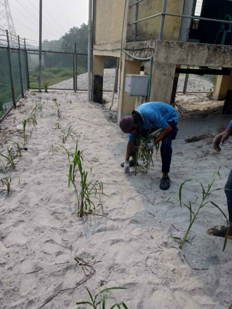
[(88, 89), (88, 55), (76, 55), (77, 90)]

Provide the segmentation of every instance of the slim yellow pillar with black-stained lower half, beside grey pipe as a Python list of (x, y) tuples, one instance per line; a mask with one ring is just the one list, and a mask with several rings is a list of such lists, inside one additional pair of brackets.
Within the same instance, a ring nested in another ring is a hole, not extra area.
[(93, 102), (102, 103), (104, 56), (93, 56)]

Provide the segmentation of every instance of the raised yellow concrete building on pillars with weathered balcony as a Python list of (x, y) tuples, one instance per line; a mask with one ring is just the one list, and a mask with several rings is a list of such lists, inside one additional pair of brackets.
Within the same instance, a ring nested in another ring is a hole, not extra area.
[(196, 73), (187, 66), (217, 75), (213, 98), (225, 98), (231, 45), (230, 0), (93, 0), (93, 101), (102, 100), (105, 56), (118, 58), (118, 120), (138, 104), (125, 84), (141, 64), (149, 75), (144, 101), (174, 102), (179, 73)]

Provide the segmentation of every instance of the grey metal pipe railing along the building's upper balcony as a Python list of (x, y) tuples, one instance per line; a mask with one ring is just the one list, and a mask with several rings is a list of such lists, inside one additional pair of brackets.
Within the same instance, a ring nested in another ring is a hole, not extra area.
[[(139, 6), (139, 3), (142, 2), (144, 0), (139, 0), (139, 1), (136, 1), (134, 3), (132, 3), (131, 5), (129, 5), (129, 8), (131, 6), (134, 6), (136, 5), (136, 11), (138, 10), (138, 6)], [(133, 25), (133, 24), (137, 24), (137, 23), (140, 23), (144, 20), (147, 20), (147, 19), (150, 19), (150, 18), (154, 18), (154, 17), (157, 17), (157, 16), (162, 16), (161, 17), (161, 23), (160, 23), (160, 32), (159, 32), (159, 40), (162, 40), (163, 38), (163, 30), (164, 30), (164, 21), (165, 21), (165, 16), (175, 16), (175, 17), (181, 17), (181, 18), (190, 18), (190, 19), (199, 19), (199, 20), (206, 20), (206, 21), (213, 21), (213, 22), (217, 22), (217, 23), (231, 23), (232, 24), (232, 21), (229, 21), (229, 20), (222, 20), (222, 19), (213, 19), (213, 18), (204, 18), (204, 17), (200, 17), (200, 16), (190, 16), (190, 15), (181, 15), (181, 14), (172, 14), (172, 13), (166, 13), (166, 6), (167, 6), (167, 0), (163, 0), (163, 8), (162, 8), (162, 12), (161, 13), (158, 13), (158, 14), (155, 14), (155, 15), (152, 15), (152, 16), (148, 16), (148, 17), (145, 17), (143, 19), (139, 19), (137, 20), (136, 16), (138, 16), (138, 13), (136, 15), (136, 12), (135, 12), (135, 21), (134, 22), (131, 22), (131, 23), (128, 23), (128, 25)], [(134, 29), (134, 42), (136, 40), (136, 32), (137, 32), (137, 27), (135, 27)]]

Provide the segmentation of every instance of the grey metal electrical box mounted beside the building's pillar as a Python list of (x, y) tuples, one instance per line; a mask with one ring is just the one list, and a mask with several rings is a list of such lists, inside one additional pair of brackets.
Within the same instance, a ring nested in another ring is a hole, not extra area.
[(148, 75), (127, 74), (125, 91), (129, 95), (148, 96), (148, 84)]

